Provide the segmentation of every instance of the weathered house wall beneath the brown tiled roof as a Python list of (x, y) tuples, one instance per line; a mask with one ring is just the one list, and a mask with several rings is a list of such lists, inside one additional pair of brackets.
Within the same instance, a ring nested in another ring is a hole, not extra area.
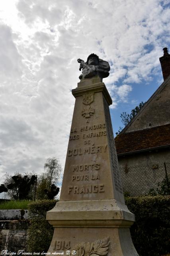
[(165, 178), (164, 162), (170, 173), (170, 150), (143, 152), (118, 158), (123, 192), (139, 196), (157, 188)]

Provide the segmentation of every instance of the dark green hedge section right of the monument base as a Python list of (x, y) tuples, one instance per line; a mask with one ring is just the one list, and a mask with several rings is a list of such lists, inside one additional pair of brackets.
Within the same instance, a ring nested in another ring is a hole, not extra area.
[(170, 196), (125, 198), (135, 214), (131, 226), (133, 244), (140, 256), (160, 256), (170, 252)]

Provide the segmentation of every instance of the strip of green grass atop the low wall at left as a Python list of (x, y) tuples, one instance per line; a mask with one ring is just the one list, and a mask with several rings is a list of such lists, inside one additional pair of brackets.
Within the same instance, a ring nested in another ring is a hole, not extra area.
[(10, 200), (0, 203), (0, 210), (28, 209), (29, 200)]

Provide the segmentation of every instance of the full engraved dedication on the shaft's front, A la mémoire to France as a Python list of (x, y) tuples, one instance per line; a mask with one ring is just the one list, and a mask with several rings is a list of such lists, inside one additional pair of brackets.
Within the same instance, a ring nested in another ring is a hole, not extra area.
[[(86, 106), (89, 106), (86, 104)], [(87, 154), (100, 154), (107, 150), (107, 144), (94, 144), (91, 142), (91, 138), (106, 136), (106, 124), (88, 124), (80, 127), (72, 127), (70, 131), (69, 140), (84, 139), (82, 146), (78, 148), (68, 148), (67, 156), (84, 156)], [(89, 139), (90, 138), (90, 139)], [(100, 175), (98, 170), (100, 170), (100, 164), (94, 162), (94, 164), (77, 164), (70, 166), (70, 171), (72, 175), (70, 180), (72, 186), (68, 186), (68, 194), (88, 194), (88, 193), (102, 193), (105, 192), (104, 184), (100, 181)], [(91, 181), (91, 182), (90, 182)], [(96, 184), (101, 182), (101, 184)], [(89, 183), (91, 183), (89, 185)], [(93, 183), (93, 184), (92, 184)]]

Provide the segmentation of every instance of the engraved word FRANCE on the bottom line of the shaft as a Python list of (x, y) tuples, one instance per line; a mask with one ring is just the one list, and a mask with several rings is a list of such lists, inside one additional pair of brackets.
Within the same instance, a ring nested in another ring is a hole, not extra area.
[(87, 193), (105, 192), (104, 184), (84, 185), (84, 186), (68, 186), (68, 194), (87, 194)]

